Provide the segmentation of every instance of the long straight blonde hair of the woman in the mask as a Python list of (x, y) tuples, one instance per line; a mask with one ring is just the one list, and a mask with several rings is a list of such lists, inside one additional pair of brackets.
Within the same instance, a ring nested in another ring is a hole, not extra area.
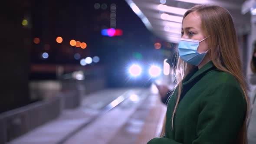
[[(237, 144), (247, 143), (247, 130), (246, 121), (249, 111), (249, 98), (247, 95), (246, 81), (243, 77), (242, 64), (238, 53), (238, 42), (236, 36), (235, 26), (230, 13), (223, 7), (215, 5), (196, 5), (184, 14), (184, 18), (192, 12), (199, 14), (201, 18), (201, 25), (204, 33), (208, 38), (208, 47), (211, 48), (208, 52), (213, 64), (223, 72), (229, 72), (234, 75), (241, 85), (244, 93), (244, 98), (247, 102), (246, 118), (243, 123), (243, 127), (239, 133)], [(186, 75), (195, 68), (194, 65), (190, 65), (184, 62), (179, 56), (177, 56), (177, 68), (176, 68), (176, 85), (174, 89), (178, 87), (178, 95), (176, 104), (172, 114), (172, 128), (173, 119), (178, 105), (178, 101), (181, 96), (182, 80)], [(162, 128), (161, 136), (165, 133), (166, 117), (164, 119), (164, 125)]]

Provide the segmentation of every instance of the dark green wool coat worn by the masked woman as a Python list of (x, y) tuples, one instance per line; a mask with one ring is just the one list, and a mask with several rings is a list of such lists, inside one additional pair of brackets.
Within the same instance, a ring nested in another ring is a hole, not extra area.
[(237, 79), (208, 62), (182, 81), (181, 101), (172, 114), (177, 88), (167, 105), (165, 137), (148, 144), (235, 144), (247, 104)]

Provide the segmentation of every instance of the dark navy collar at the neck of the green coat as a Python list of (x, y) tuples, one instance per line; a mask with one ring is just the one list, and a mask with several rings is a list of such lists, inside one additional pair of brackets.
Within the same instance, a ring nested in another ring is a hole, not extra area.
[(203, 67), (201, 69), (198, 69), (198, 67), (196, 67), (195, 69), (193, 69), (183, 80), (183, 84), (186, 85), (190, 82), (192, 82), (194, 79), (196, 79), (198, 76), (205, 74), (206, 72), (210, 71), (211, 69), (216, 68), (213, 65), (213, 62), (210, 61), (207, 64), (203, 65)]

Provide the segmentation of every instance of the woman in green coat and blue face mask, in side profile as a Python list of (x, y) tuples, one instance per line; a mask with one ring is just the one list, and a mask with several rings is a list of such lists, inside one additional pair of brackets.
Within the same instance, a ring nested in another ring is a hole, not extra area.
[(161, 137), (148, 144), (246, 144), (249, 100), (230, 13), (192, 7), (181, 35), (177, 84)]

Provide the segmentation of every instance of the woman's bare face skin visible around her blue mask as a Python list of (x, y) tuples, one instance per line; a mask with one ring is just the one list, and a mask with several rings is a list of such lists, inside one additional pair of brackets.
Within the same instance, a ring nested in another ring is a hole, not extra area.
[[(201, 18), (196, 12), (189, 13), (183, 20), (181, 36), (185, 39), (194, 39), (201, 41), (206, 38), (201, 28)], [(203, 53), (208, 50), (207, 39), (199, 43), (197, 52)]]

